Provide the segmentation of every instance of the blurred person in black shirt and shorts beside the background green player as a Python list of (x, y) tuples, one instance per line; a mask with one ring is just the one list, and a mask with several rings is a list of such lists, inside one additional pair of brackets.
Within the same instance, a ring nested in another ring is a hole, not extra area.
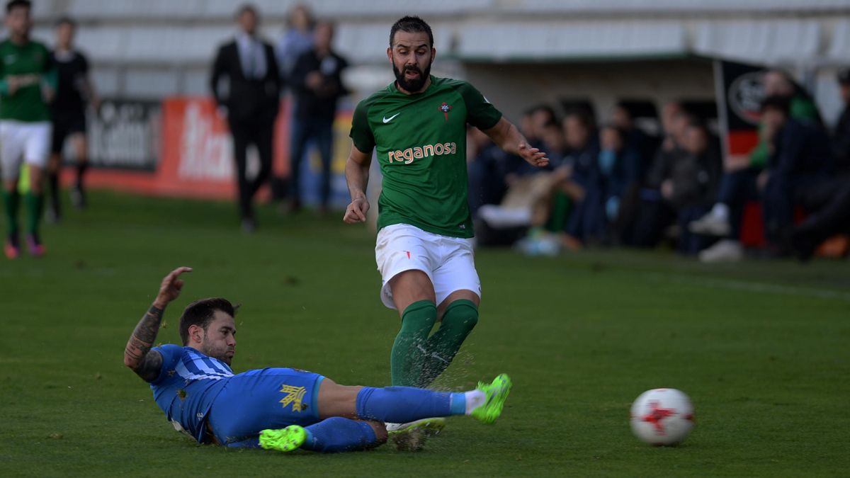
[(68, 17), (56, 22), (56, 49), (53, 52), (53, 60), (58, 72), (58, 86), (53, 103), (50, 104), (54, 128), (48, 164), (48, 219), (54, 221), (59, 220), (61, 216), (59, 172), (62, 168), (65, 139), (71, 139), (74, 157), (77, 159), (77, 182), (71, 190), (71, 201), (77, 208), (84, 208), (86, 205), (83, 188), (83, 176), (88, 168), (86, 104), (91, 103), (95, 111), (99, 107), (99, 99), (88, 77), (88, 60), (84, 54), (74, 49), (76, 30), (74, 20)]

